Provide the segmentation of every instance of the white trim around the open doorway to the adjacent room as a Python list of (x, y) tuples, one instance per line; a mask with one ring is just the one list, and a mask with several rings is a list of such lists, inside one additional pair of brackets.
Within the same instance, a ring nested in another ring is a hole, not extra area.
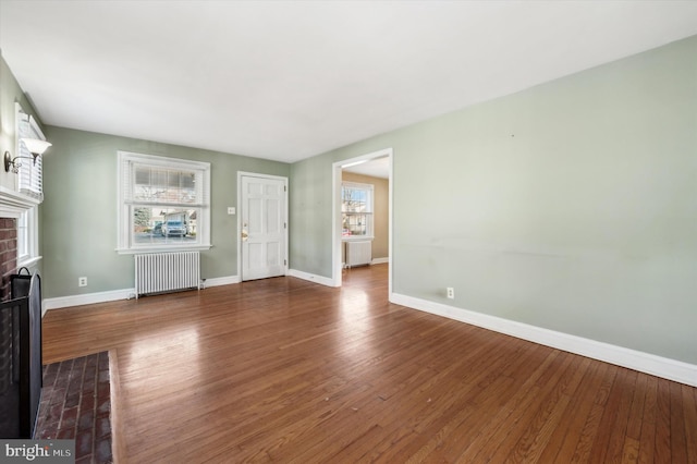
[(392, 296), (392, 198), (393, 198), (393, 169), (392, 169), (392, 148), (383, 148), (381, 150), (371, 151), (356, 158), (344, 159), (332, 164), (332, 227), (331, 227), (331, 261), (332, 261), (332, 285), (341, 286), (342, 284), (342, 266), (341, 266), (341, 179), (344, 168), (350, 168), (363, 162), (367, 162), (377, 158), (388, 157), (389, 159), (389, 178), (388, 178), (388, 295)]

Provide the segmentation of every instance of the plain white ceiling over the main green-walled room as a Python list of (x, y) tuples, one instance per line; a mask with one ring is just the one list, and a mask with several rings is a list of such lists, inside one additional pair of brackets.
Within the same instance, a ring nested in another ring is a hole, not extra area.
[(45, 123), (289, 162), (695, 34), (695, 1), (0, 0)]

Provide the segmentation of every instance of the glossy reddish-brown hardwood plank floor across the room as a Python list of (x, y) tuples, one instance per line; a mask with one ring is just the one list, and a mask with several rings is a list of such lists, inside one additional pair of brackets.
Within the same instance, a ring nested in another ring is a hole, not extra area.
[(117, 354), (131, 463), (697, 463), (697, 389), (294, 278), (49, 312)]

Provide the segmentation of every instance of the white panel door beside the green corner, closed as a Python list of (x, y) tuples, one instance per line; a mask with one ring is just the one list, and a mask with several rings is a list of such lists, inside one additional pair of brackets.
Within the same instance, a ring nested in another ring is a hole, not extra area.
[(242, 176), (242, 280), (285, 276), (284, 179)]

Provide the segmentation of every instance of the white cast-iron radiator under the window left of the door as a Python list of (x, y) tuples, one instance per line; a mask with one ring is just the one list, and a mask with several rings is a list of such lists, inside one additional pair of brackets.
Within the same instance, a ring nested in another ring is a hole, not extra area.
[(198, 252), (135, 255), (135, 297), (200, 288)]

